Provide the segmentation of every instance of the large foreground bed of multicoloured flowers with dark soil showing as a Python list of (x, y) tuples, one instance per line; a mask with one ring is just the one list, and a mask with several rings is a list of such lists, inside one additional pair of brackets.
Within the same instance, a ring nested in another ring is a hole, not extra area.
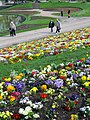
[(0, 83), (0, 119), (89, 120), (90, 58), (12, 71)]

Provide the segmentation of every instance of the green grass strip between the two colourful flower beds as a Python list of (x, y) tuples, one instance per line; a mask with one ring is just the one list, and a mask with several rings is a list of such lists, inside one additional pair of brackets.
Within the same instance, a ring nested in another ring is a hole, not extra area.
[[(40, 69), (40, 66), (42, 66), (42, 68), (44, 68), (46, 65), (55, 63), (56, 65), (60, 64), (60, 63), (66, 63), (66, 62), (70, 62), (73, 60), (78, 60), (81, 59), (82, 57), (86, 57), (86, 52), (88, 51), (88, 53), (90, 54), (90, 48), (87, 47), (85, 49), (78, 49), (76, 51), (67, 51), (58, 55), (54, 55), (54, 56), (48, 56), (48, 57), (44, 57), (44, 58), (38, 58), (35, 60), (27, 60), (24, 62), (19, 62), (19, 63), (15, 63), (15, 64), (3, 64), (0, 63), (0, 79), (3, 76), (9, 76), (10, 72), (12, 70), (16, 70), (18, 72), (21, 72), (23, 69), (29, 69), (29, 70), (33, 70), (33, 69)], [(28, 64), (28, 66), (27, 66)]]

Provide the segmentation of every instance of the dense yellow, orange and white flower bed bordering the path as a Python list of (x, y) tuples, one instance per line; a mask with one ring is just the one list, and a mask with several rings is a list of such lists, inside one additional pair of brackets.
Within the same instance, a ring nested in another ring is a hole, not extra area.
[(77, 50), (90, 46), (90, 30), (87, 28), (48, 36), (42, 40), (21, 43), (16, 46), (0, 49), (0, 61), (16, 63)]

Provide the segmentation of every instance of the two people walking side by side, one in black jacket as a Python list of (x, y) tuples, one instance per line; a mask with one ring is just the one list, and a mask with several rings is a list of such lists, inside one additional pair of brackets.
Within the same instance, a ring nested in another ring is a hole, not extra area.
[[(49, 22), (49, 28), (51, 29), (51, 32), (53, 32), (54, 26), (55, 26), (55, 23), (54, 23), (53, 20), (51, 20), (51, 21)], [(57, 33), (57, 32), (60, 32), (60, 30), (61, 30), (61, 24), (60, 24), (60, 21), (57, 19), (57, 20), (56, 20), (56, 33)]]

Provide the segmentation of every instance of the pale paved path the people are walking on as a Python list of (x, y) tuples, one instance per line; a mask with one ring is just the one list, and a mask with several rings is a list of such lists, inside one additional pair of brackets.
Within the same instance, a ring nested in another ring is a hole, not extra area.
[[(31, 11), (41, 12), (40, 14), (38, 14), (38, 16), (49, 16), (49, 17), (54, 17), (54, 18), (60, 18), (61, 26), (62, 26), (61, 33), (88, 27), (88, 26), (90, 27), (90, 17), (67, 18), (67, 17), (54, 16), (52, 15), (52, 13), (54, 12), (42, 11), (39, 9), (32, 9)], [(38, 30), (18, 33), (15, 37), (10, 37), (9, 35), (0, 37), (0, 48), (8, 47), (8, 46), (18, 44), (21, 42), (40, 39), (40, 38), (43, 38), (49, 35), (56, 35), (55, 28), (54, 28), (53, 33), (50, 32), (49, 28), (42, 28)]]

